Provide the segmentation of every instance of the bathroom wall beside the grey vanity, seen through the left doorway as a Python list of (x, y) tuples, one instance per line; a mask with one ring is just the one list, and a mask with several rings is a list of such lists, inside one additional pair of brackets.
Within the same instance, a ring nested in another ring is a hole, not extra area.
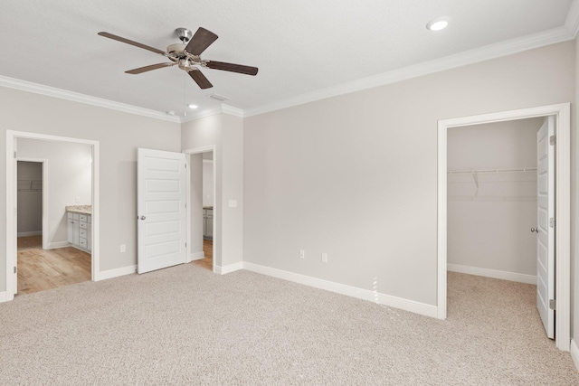
[[(19, 157), (47, 161), (44, 190), (47, 202), (48, 248), (67, 245), (65, 206), (90, 205), (92, 202), (92, 149), (89, 145), (18, 138)], [(76, 198), (79, 202), (76, 202)]]

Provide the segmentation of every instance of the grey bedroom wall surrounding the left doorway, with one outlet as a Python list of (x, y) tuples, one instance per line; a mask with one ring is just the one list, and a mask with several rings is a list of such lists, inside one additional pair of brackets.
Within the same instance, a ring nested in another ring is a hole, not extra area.
[[(0, 88), (0, 202), (5, 202), (5, 130), (100, 141), (100, 270), (137, 263), (137, 148), (180, 151), (180, 126), (17, 89)], [(31, 109), (32, 108), (32, 109)], [(31, 113), (32, 111), (32, 113)], [(0, 205), (0, 218), (5, 218)], [(119, 253), (119, 245), (127, 252)], [(5, 245), (5, 221), (0, 221)], [(0, 292), (5, 291), (0, 249)]]

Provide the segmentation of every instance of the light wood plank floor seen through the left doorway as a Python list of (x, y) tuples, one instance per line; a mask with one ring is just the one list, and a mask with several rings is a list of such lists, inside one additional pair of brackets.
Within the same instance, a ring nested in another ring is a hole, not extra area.
[(32, 294), (91, 278), (91, 256), (66, 247), (43, 249), (42, 236), (18, 238), (18, 293)]

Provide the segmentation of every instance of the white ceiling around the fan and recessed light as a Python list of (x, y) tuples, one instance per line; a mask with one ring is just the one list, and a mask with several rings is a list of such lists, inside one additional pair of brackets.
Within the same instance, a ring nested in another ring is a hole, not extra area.
[[(163, 114), (186, 111), (185, 118), (221, 108), (207, 98), (217, 93), (251, 115), (348, 85), (386, 82), (403, 69), (412, 76), (408, 69), (424, 71), (420, 63), (452, 66), (460, 62), (452, 58), (477, 61), (572, 39), (577, 1), (6, 1), (0, 76)], [(425, 25), (440, 16), (450, 18), (449, 27), (428, 31)], [(178, 42), (177, 27), (195, 33), (200, 26), (219, 35), (203, 59), (256, 66), (257, 76), (204, 69), (214, 88), (202, 90), (176, 67), (128, 75), (124, 71), (166, 59), (97, 35), (105, 31), (165, 51)], [(186, 109), (188, 103), (201, 108)]]

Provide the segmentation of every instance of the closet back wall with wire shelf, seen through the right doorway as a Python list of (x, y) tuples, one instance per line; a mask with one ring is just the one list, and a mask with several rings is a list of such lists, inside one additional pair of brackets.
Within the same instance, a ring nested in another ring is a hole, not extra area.
[[(448, 169), (536, 167), (536, 131), (544, 118), (448, 131)], [(485, 275), (484, 269), (536, 276), (536, 172), (448, 176), (449, 270)], [(460, 267), (453, 267), (453, 266)], [(473, 269), (474, 268), (474, 269)]]

